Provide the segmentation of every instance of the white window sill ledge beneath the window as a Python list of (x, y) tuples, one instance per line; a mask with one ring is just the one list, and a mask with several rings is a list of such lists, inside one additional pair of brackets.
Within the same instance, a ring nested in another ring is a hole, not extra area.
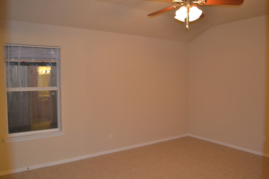
[(54, 137), (63, 135), (64, 131), (57, 131), (57, 132), (44, 132), (44, 133), (38, 133), (38, 134), (31, 134), (31, 135), (20, 135), (20, 136), (13, 136), (13, 137), (7, 137), (4, 139), (5, 143), (10, 142), (19, 142), (24, 140), (32, 140), (32, 139), (41, 139), (45, 137)]

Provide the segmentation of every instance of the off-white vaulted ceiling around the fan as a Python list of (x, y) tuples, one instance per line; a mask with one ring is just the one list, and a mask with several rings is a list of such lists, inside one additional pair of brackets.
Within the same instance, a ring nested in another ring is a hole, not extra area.
[(51, 24), (190, 42), (212, 26), (269, 14), (269, 0), (240, 6), (199, 5), (205, 17), (189, 24), (175, 10), (147, 14), (177, 3), (166, 0), (1, 0), (2, 19)]

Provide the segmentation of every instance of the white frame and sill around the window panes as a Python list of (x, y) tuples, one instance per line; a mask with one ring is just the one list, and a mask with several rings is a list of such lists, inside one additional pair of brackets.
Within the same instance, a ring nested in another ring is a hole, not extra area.
[[(45, 48), (60, 48), (60, 47), (51, 47), (51, 46), (36, 46), (36, 45), (18, 45), (18, 44), (4, 44), (4, 46), (20, 46), (20, 47), (45, 47)], [(11, 59), (9, 62), (12, 62), (14, 59)], [(29, 61), (33, 62), (32, 59), (23, 59), (22, 61)], [(42, 61), (42, 60), (40, 60)], [(7, 61), (4, 60), (4, 63)], [(38, 62), (38, 61), (35, 61)], [(5, 106), (6, 106), (6, 139), (4, 139), (5, 143), (9, 142), (18, 142), (18, 141), (24, 141), (24, 140), (31, 140), (31, 139), (40, 139), (45, 137), (52, 137), (52, 136), (59, 136), (63, 135), (64, 131), (62, 128), (62, 118), (61, 118), (61, 88), (60, 88), (60, 62), (56, 62), (56, 80), (57, 80), (57, 86), (56, 87), (23, 87), (23, 88), (9, 88), (6, 82), (6, 76), (5, 76)], [(5, 71), (5, 75), (6, 75)], [(8, 126), (8, 105), (7, 105), (7, 93), (10, 91), (50, 91), (54, 90), (57, 91), (57, 124), (58, 128), (53, 129), (45, 129), (45, 130), (37, 130), (37, 131), (29, 131), (29, 132), (17, 132), (17, 133), (11, 133), (9, 134), (9, 126)]]

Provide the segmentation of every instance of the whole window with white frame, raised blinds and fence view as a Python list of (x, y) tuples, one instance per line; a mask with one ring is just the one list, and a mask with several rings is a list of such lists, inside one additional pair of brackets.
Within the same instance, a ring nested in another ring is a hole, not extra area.
[(60, 47), (4, 44), (7, 139), (63, 135)]

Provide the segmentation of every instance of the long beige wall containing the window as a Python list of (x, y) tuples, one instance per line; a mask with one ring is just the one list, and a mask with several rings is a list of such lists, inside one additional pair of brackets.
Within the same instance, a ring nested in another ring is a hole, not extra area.
[[(0, 172), (188, 133), (188, 44), (14, 21), (1, 28), (1, 37), (1, 44), (61, 47), (66, 132), (1, 141)], [(2, 51), (0, 46), (3, 57)], [(3, 75), (1, 70), (1, 140), (6, 130)]]

